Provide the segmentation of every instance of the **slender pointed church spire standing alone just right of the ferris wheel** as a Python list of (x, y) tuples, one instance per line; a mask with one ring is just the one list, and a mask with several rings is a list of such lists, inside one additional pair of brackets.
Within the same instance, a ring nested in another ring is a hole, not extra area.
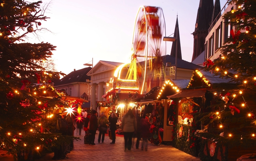
[(174, 41), (172, 46), (171, 46), (171, 54), (170, 55), (176, 57), (176, 43), (178, 43), (177, 58), (182, 59), (180, 32), (179, 32), (179, 28), (178, 28), (178, 14), (177, 14), (176, 25), (175, 25), (174, 36), (173, 37), (176, 37), (176, 41)]

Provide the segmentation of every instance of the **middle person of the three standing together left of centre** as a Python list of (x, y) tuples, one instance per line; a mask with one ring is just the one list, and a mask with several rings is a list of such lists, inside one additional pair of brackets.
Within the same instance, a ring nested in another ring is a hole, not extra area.
[(102, 135), (102, 139), (101, 142), (104, 142), (105, 139), (105, 133), (107, 132), (107, 124), (108, 124), (108, 119), (105, 117), (105, 113), (102, 112), (100, 114), (100, 118), (98, 120), (98, 126), (99, 126), (99, 138), (98, 138), (98, 143), (100, 143), (100, 139), (101, 139), (101, 135)]

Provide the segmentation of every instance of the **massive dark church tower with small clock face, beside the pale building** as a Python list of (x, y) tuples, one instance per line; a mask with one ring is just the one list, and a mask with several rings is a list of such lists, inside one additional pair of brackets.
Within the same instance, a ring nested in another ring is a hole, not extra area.
[[(219, 0), (218, 0), (219, 1)], [(213, 16), (213, 0), (200, 0), (197, 10), (192, 61), (204, 51), (205, 38)]]

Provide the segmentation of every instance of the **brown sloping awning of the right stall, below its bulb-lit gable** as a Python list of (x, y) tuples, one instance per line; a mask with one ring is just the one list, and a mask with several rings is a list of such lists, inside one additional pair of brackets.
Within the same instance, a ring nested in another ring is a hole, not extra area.
[(211, 89), (186, 89), (181, 90), (173, 95), (167, 96), (168, 99), (171, 98), (191, 98), (191, 97), (202, 97), (206, 93), (206, 90), (210, 91)]

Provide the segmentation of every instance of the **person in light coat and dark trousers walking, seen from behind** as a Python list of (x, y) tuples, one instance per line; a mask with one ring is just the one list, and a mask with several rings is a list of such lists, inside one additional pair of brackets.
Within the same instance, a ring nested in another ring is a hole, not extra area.
[(137, 122), (132, 109), (129, 109), (128, 112), (123, 116), (121, 130), (123, 131), (124, 135), (124, 152), (126, 152), (127, 149), (130, 151), (132, 148), (133, 133), (137, 130)]

